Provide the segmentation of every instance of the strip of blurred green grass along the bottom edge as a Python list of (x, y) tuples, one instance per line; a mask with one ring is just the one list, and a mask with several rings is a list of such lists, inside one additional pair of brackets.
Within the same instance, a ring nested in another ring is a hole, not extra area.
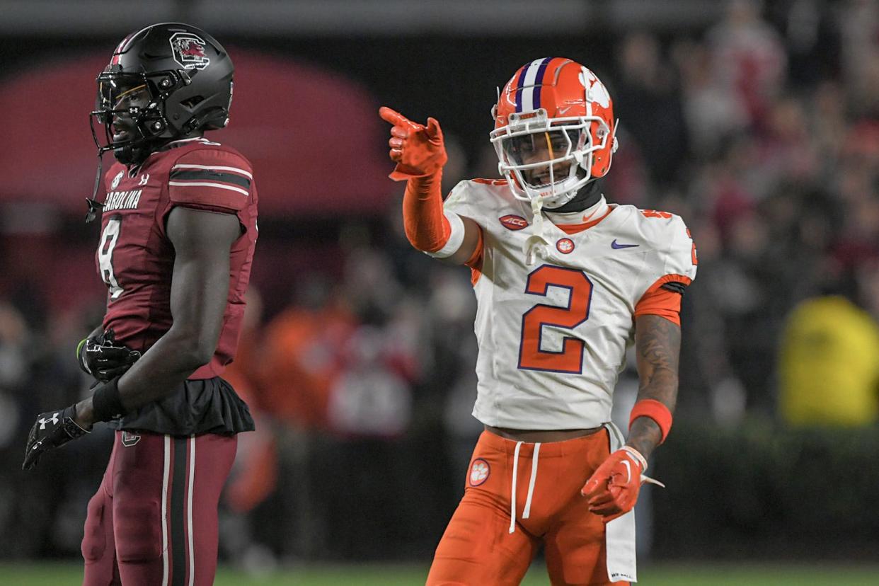
[[(639, 584), (648, 586), (875, 586), (879, 565), (695, 565), (661, 564), (639, 568)], [(216, 586), (411, 586), (424, 584), (426, 568), (404, 565), (322, 566), (253, 576), (220, 568)], [(74, 563), (0, 563), (4, 586), (67, 586), (82, 582)], [(546, 571), (535, 565), (522, 586), (546, 586)], [(488, 586), (488, 585), (486, 585)]]

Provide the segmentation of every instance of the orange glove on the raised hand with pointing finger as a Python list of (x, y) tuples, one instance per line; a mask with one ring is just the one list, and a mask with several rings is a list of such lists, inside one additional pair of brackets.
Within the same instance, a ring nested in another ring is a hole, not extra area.
[(433, 175), (446, 164), (446, 147), (436, 119), (428, 118), (427, 126), (412, 122), (387, 106), (379, 108), (379, 116), (393, 124), (390, 129), (390, 160), (396, 168), (389, 177), (403, 181), (412, 177)]

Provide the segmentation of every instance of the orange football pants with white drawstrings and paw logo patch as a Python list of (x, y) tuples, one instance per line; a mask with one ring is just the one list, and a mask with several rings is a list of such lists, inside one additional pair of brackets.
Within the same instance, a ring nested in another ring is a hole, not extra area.
[[(603, 429), (548, 444), (519, 443), (483, 431), (427, 586), (519, 584), (541, 542), (553, 586), (610, 584), (604, 523), (580, 495), (609, 453)], [(516, 507), (510, 532), (513, 470)]]

